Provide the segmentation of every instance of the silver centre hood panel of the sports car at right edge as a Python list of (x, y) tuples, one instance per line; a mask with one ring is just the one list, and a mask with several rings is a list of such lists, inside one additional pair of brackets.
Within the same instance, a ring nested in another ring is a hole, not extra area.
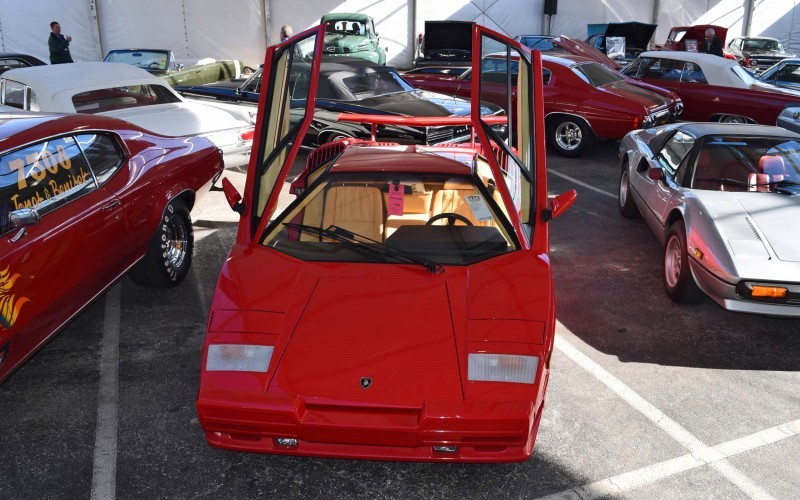
[(747, 211), (778, 259), (800, 262), (800, 199), (777, 193), (740, 195), (737, 202)]

